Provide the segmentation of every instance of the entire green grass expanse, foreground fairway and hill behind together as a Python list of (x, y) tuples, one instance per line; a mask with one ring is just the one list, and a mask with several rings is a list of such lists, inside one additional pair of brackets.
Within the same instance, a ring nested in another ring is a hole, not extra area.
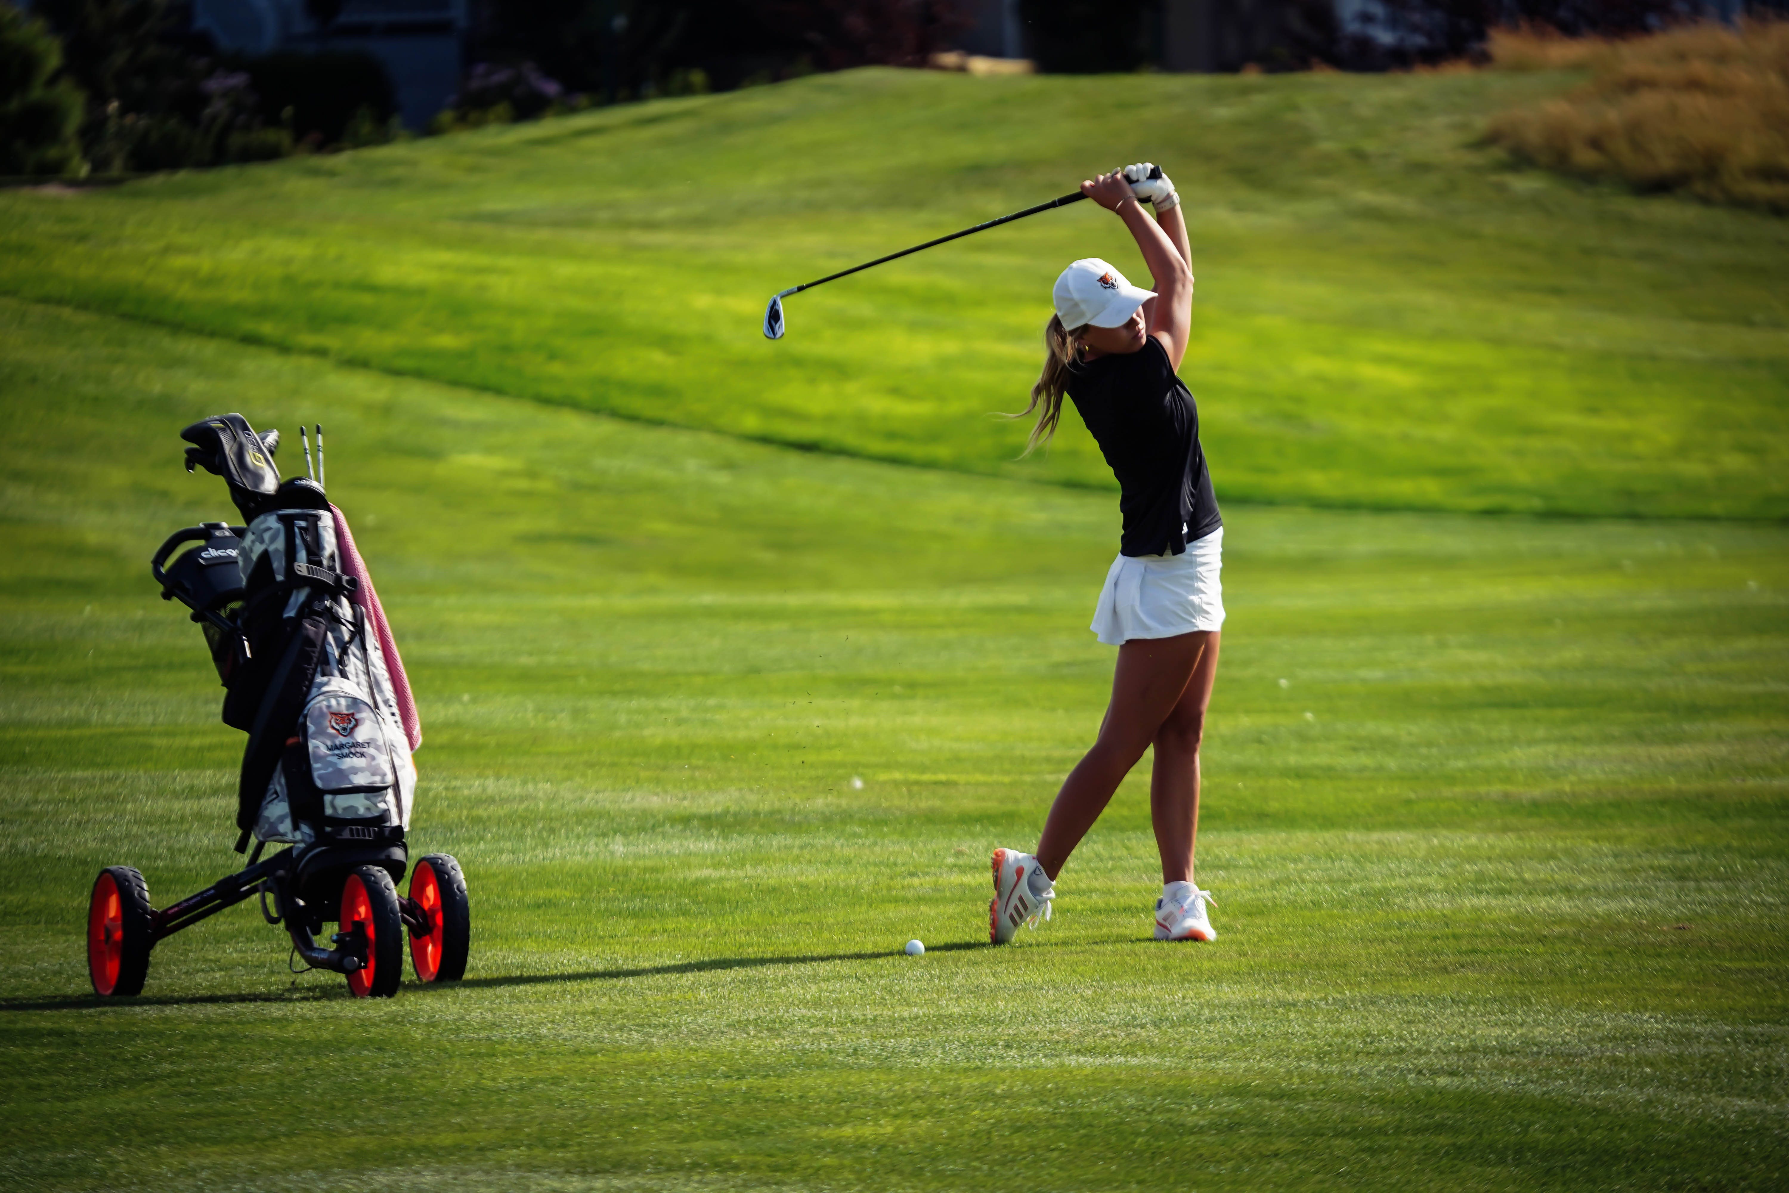
[[(864, 72), (0, 195), (0, 1184), (1780, 1184), (1782, 238), (1463, 148), (1551, 86)], [(1140, 767), (991, 950), (988, 850), (1098, 724), (1116, 512), (982, 413), (1122, 245), (1072, 209), (757, 318), (1066, 190), (1102, 113), (1204, 140), (1222, 937), (1147, 939)], [(352, 1002), (243, 905), (84, 993), (100, 866), (166, 905), (238, 862), (147, 576), (229, 513), (175, 438), (218, 410), (329, 429), (465, 982)], [(1685, 517), (1446, 512), (1535, 501)]]

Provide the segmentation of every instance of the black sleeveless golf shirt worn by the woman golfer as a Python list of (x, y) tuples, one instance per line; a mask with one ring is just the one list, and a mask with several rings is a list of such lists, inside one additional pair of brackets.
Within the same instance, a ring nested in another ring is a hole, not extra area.
[(1068, 397), (1118, 478), (1120, 554), (1183, 554), (1224, 524), (1199, 445), (1199, 404), (1161, 340), (1077, 365)]

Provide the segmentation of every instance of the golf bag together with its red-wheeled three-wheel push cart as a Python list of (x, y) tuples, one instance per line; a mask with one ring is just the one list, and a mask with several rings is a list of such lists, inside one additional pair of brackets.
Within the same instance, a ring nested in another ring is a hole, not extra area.
[[(258, 435), (242, 415), (195, 422), (181, 438), (191, 444), (186, 470), (222, 476), (245, 526), (175, 531), (150, 574), (204, 628), (224, 721), (249, 733), (236, 851), (259, 844), (242, 871), (159, 910), (141, 871), (102, 869), (88, 903), (93, 993), (141, 993), (157, 941), (256, 894), (293, 955), (342, 973), (360, 998), (397, 993), (406, 937), (417, 980), (458, 980), (471, 946), (465, 875), (447, 853), (410, 866), (410, 753), (422, 726), (372, 576), (324, 495), (322, 427), (317, 479), (284, 483), (272, 463), (279, 433)], [(286, 848), (261, 859), (268, 842)], [(335, 948), (313, 939), (326, 921), (340, 925)]]

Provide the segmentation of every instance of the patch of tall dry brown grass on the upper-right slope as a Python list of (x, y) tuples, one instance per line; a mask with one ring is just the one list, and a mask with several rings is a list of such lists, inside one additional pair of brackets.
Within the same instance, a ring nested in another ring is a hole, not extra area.
[(1789, 211), (1789, 21), (1614, 43), (1521, 30), (1494, 39), (1492, 55), (1513, 70), (1594, 72), (1558, 100), (1492, 120), (1490, 141), (1517, 157), (1642, 191)]

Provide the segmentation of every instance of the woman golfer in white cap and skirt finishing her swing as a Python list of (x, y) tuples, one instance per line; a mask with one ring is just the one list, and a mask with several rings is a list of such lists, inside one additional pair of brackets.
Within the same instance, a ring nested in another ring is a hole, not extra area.
[[(1113, 698), (1098, 740), (1070, 771), (1036, 853), (995, 850), (989, 939), (1050, 918), (1056, 878), (1106, 810), (1118, 782), (1156, 748), (1149, 808), (1161, 851), (1157, 941), (1215, 941), (1209, 891), (1193, 885), (1199, 832), (1199, 740), (1224, 624), (1218, 585), (1224, 520), (1199, 447), (1199, 408), (1175, 376), (1193, 308), (1191, 252), (1174, 184), (1150, 165), (1082, 182), (1084, 195), (1123, 220), (1156, 290), (1140, 290), (1106, 261), (1075, 261), (1056, 279), (1050, 349), (1030, 390), (1030, 444), (1056, 431), (1063, 393), (1118, 478), (1123, 537), (1106, 574), (1091, 630), (1118, 647)], [(1140, 199), (1149, 199), (1149, 218)], [(1215, 901), (1215, 900), (1211, 900)]]

